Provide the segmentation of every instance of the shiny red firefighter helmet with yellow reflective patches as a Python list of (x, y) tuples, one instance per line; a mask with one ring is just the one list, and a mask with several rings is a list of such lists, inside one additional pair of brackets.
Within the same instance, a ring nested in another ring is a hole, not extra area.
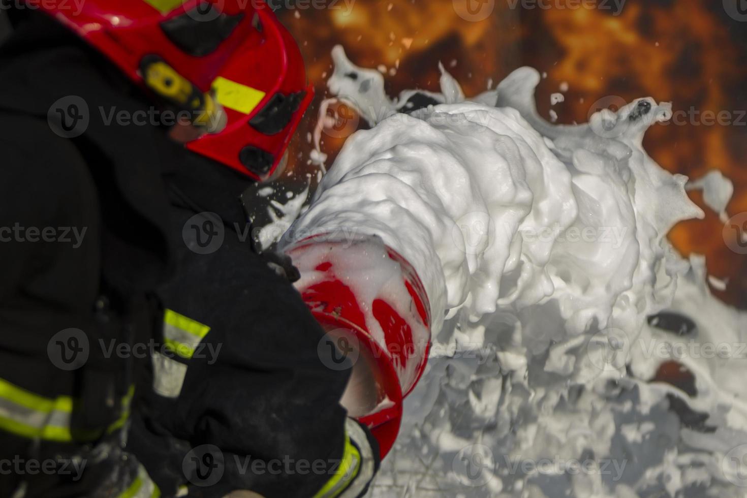
[(303, 58), (263, 0), (66, 0), (41, 8), (208, 131), (187, 149), (269, 178), (309, 106)]

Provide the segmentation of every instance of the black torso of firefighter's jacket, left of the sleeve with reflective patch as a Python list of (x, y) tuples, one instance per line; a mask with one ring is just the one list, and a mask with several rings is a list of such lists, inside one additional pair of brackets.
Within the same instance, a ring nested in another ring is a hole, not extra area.
[(2, 497), (148, 491), (122, 446), (149, 358), (126, 347), (152, 337), (170, 272), (167, 138), (99, 108), (148, 104), (51, 19), (20, 22), (0, 47)]

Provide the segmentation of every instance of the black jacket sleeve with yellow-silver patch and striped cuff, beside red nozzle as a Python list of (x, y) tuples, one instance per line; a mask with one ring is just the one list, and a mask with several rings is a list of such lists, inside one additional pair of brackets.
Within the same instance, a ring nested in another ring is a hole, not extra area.
[(324, 366), (322, 329), (252, 249), (239, 199), (248, 181), (182, 150), (165, 178), (184, 243), (160, 294), (165, 339), (185, 348), (154, 361), (132, 451), (164, 493), (176, 483), (190, 497), (363, 494), (378, 447), (339, 405), (349, 373)]

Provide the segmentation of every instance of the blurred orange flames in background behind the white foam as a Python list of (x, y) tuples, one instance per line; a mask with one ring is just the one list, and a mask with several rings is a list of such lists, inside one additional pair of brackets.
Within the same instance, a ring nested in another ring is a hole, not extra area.
[[(295, 172), (316, 169), (306, 164), (311, 144), (304, 137), (313, 130), (326, 94), (329, 52), (340, 43), (356, 63), (385, 73), (390, 94), (412, 87), (437, 90), (440, 61), (467, 95), (486, 90), (518, 66), (546, 72), (538, 89), (539, 112), (549, 118), (554, 110), (558, 122), (586, 122), (601, 107), (616, 110), (639, 96), (672, 101), (681, 119), (651, 128), (645, 138), (649, 154), (670, 172), (690, 178), (721, 170), (734, 181), (728, 214), (747, 211), (747, 172), (740, 161), (747, 154), (747, 102), (739, 86), (747, 71), (747, 45), (737, 39), (745, 32), (741, 23), (728, 16), (722, 2), (629, 0), (619, 15), (584, 2), (572, 9), (484, 3), (493, 10), (478, 22), (459, 16), (459, 0), (359, 1), (350, 10), (283, 12), (317, 87), (314, 106), (300, 126), (301, 140), (291, 151), (300, 158)], [(565, 84), (565, 102), (551, 106), (551, 93)], [(726, 119), (707, 119), (719, 115)], [(327, 164), (344, 139), (323, 135)], [(747, 271), (747, 259), (728, 249), (723, 225), (704, 206), (701, 193), (690, 195), (706, 219), (682, 222), (669, 238), (684, 255), (706, 255), (713, 276), (731, 276), (725, 291), (714, 292), (745, 307), (747, 281), (739, 276)]]

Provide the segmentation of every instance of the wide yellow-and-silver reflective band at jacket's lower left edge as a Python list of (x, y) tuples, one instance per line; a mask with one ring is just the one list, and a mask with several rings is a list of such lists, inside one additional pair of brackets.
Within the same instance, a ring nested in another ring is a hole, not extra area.
[[(131, 387), (134, 393), (134, 386)], [(131, 393), (128, 393), (131, 399)], [(128, 399), (125, 396), (125, 399)], [(123, 399), (123, 403), (125, 402)], [(129, 403), (129, 402), (127, 402)], [(45, 441), (95, 441), (104, 430), (71, 429), (72, 397), (46, 398), (22, 387), (0, 379), (0, 429), (23, 438), (40, 438)], [(114, 432), (124, 425), (128, 410), (114, 422), (109, 430)], [(116, 426), (121, 422), (121, 425)]]

